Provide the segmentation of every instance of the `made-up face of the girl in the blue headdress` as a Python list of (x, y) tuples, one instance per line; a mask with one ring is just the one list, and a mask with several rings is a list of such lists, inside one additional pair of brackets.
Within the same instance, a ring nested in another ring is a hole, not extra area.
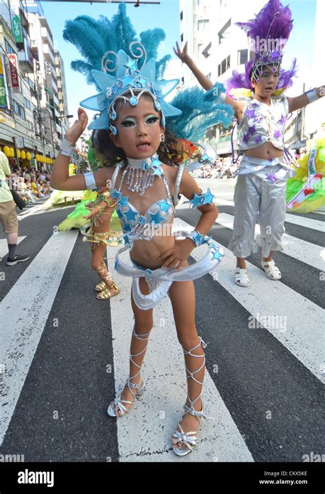
[(165, 127), (160, 127), (160, 114), (152, 98), (141, 96), (136, 106), (129, 103), (118, 106), (117, 114), (118, 133), (110, 134), (117, 148), (123, 148), (128, 158), (149, 158), (155, 154)]

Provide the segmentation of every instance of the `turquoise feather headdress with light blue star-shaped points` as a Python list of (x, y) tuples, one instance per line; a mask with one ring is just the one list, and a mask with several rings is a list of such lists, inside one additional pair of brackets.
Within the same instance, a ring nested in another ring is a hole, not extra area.
[[(84, 73), (87, 82), (95, 84), (100, 91), (80, 103), (100, 113), (88, 128), (110, 128), (113, 134), (117, 133), (110, 121), (117, 117), (115, 102), (122, 98), (136, 105), (144, 91), (152, 95), (156, 110), (162, 111), (162, 125), (166, 124), (167, 130), (179, 139), (196, 141), (204, 137), (210, 126), (219, 122), (226, 127), (230, 125), (233, 111), (219, 98), (219, 92), (225, 91), (222, 85), (210, 101), (204, 99), (206, 92), (198, 88), (179, 91), (171, 102), (165, 101), (179, 82), (163, 80), (170, 55), (156, 60), (158, 45), (165, 39), (165, 32), (159, 28), (147, 30), (140, 34), (139, 41), (126, 16), (124, 3), (119, 5), (118, 13), (111, 20), (105, 16), (100, 16), (98, 21), (89, 16), (78, 16), (74, 21), (67, 21), (63, 36), (79, 49), (85, 59), (74, 60), (71, 67)], [(132, 51), (135, 43), (141, 46), (139, 55)], [(111, 59), (113, 54), (115, 63)], [(147, 63), (146, 56), (149, 58)], [(125, 97), (125, 93), (130, 95)]]

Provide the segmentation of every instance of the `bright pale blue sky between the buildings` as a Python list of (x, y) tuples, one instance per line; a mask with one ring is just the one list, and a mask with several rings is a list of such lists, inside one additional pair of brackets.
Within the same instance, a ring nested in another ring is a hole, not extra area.
[[(192, 1), (192, 0), (188, 0)], [(245, 0), (252, 1), (254, 0)], [(325, 1), (325, 0), (322, 0)], [(298, 81), (291, 91), (302, 89), (302, 80), (306, 80), (309, 85), (311, 74), (313, 30), (315, 23), (316, 0), (291, 0), (289, 3), (294, 19), (294, 27), (291, 32), (289, 43), (285, 51), (283, 67), (289, 67), (293, 58), (298, 58)], [(88, 2), (55, 2), (41, 1), (45, 17), (51, 28), (53, 40), (64, 60), (64, 71), (67, 82), (67, 97), (69, 114), (77, 117), (77, 108), (82, 99), (96, 93), (95, 86), (88, 86), (84, 75), (71, 69), (72, 60), (80, 57), (79, 51), (62, 38), (64, 23), (67, 19), (75, 19), (76, 16), (86, 14), (98, 19), (99, 15), (106, 15), (110, 18), (116, 14), (117, 3), (93, 3)], [(180, 38), (180, 11), (178, 0), (160, 0), (160, 5), (141, 5), (134, 8), (134, 5), (127, 4), (127, 14), (140, 34), (142, 31), (154, 27), (162, 27), (166, 33), (165, 43), (160, 45), (159, 56), (171, 54), (172, 58), (177, 58), (173, 53), (173, 45)], [(312, 82), (311, 82), (312, 84)], [(308, 89), (308, 88), (307, 88)], [(302, 92), (302, 91), (301, 91)], [(93, 113), (89, 112), (89, 115)], [(73, 122), (73, 119), (70, 120)]]

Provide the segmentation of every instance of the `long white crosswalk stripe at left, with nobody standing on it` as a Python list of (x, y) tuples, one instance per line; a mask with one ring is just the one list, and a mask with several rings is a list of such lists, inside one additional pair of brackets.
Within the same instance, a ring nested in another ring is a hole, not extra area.
[(0, 335), (0, 366), (3, 377), (0, 446), (77, 234), (77, 231), (53, 234), (1, 302), (1, 322), (5, 330)]

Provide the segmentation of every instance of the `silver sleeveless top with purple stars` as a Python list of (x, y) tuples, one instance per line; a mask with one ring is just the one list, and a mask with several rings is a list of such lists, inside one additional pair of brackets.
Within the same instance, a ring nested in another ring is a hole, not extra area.
[(238, 126), (239, 151), (256, 148), (271, 142), (275, 148), (285, 147), (285, 123), (289, 113), (288, 99), (284, 95), (271, 98), (271, 106), (251, 99), (244, 107)]

